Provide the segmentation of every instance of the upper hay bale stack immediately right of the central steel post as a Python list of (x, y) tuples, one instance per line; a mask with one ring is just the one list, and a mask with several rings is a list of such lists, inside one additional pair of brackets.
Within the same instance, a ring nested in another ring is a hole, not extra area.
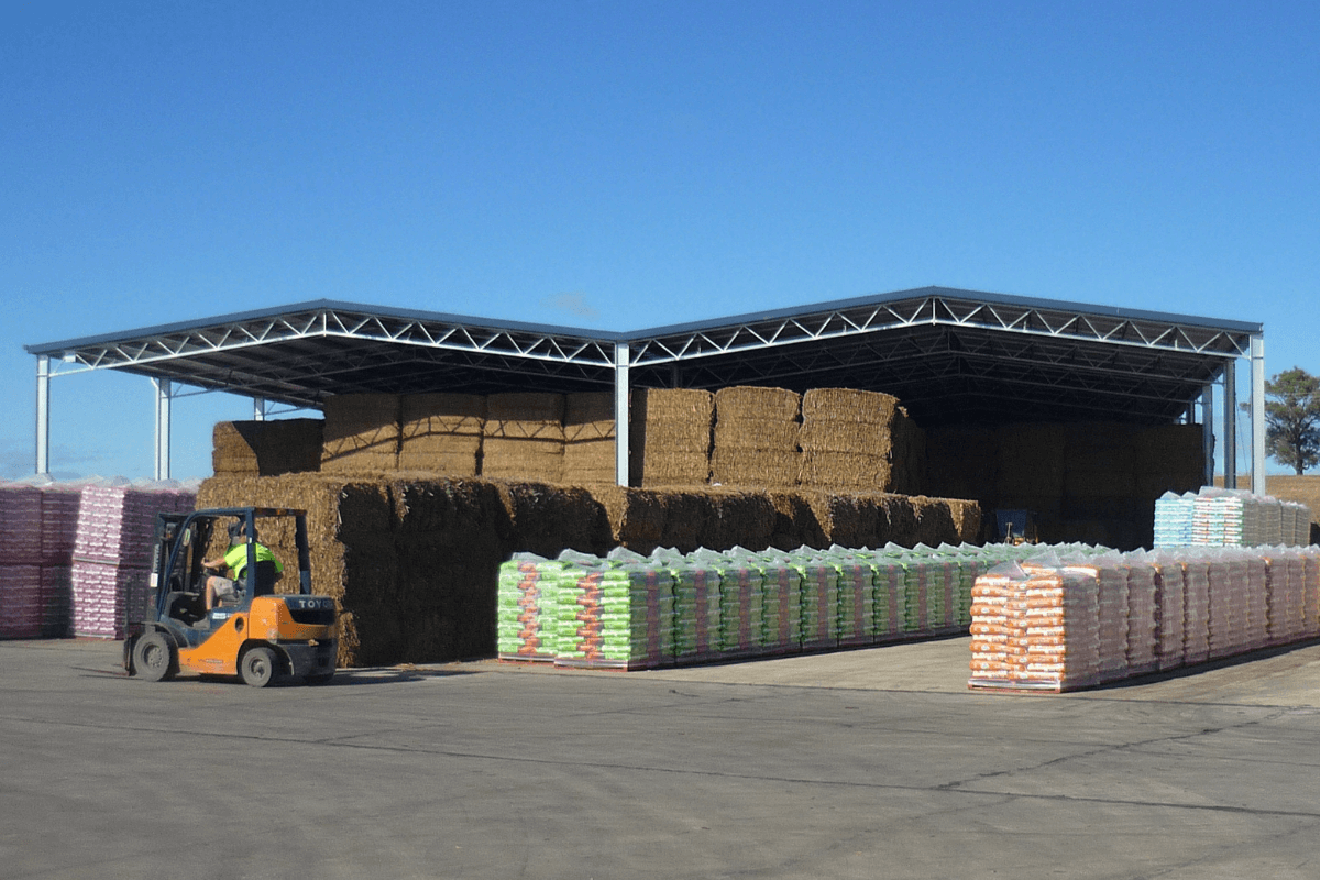
[(714, 412), (709, 391), (632, 392), (628, 483), (647, 488), (709, 483)]

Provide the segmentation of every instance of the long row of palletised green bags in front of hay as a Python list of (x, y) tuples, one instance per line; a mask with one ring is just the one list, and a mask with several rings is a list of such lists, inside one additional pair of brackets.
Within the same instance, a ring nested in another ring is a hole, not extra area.
[(997, 561), (970, 545), (517, 553), (499, 573), (498, 656), (653, 669), (966, 632)]

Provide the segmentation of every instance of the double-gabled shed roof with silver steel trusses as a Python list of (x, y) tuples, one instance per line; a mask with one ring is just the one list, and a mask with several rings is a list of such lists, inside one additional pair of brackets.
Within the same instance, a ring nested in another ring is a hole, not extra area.
[(1181, 417), (1262, 325), (919, 288), (634, 332), (315, 299), (26, 346), (51, 375), (117, 369), (290, 406), (331, 394), (846, 387), (924, 426)]

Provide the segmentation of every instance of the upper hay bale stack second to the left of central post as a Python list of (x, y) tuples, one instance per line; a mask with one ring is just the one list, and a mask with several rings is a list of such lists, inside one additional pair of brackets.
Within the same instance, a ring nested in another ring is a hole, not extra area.
[(562, 482), (564, 394), (490, 394), (483, 438), (482, 476)]

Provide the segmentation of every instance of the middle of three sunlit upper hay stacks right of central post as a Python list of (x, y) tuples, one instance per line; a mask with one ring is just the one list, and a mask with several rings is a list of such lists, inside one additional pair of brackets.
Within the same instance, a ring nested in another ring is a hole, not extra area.
[(797, 482), (801, 397), (783, 388), (734, 387), (715, 392), (710, 482), (721, 486), (793, 486)]

